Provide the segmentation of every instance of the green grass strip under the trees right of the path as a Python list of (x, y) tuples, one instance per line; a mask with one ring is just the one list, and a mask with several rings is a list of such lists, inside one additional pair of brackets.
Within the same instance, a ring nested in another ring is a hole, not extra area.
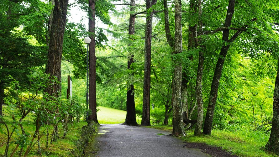
[[(171, 125), (149, 126), (166, 131), (172, 131)], [(194, 131), (186, 131), (183, 139), (187, 142), (205, 143), (215, 147), (222, 147), (238, 156), (249, 157), (271, 157), (276, 156), (264, 151), (264, 146), (268, 141), (269, 135), (258, 131), (236, 131), (212, 130), (212, 135), (194, 136)]]

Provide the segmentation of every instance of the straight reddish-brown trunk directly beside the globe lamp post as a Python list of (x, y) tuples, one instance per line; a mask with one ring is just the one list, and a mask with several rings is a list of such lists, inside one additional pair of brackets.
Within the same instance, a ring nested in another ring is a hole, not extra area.
[(95, 0), (89, 0), (89, 109), (91, 114), (89, 121), (98, 124), (97, 101), (96, 101), (96, 43), (95, 43)]

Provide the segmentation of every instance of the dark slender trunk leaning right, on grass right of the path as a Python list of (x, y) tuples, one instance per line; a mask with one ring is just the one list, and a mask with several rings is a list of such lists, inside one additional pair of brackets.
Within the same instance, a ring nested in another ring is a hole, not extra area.
[[(228, 10), (227, 10), (224, 27), (229, 27), (231, 25), (231, 20), (232, 20), (233, 14), (234, 14), (234, 4), (235, 4), (235, 0), (229, 0), (229, 5), (228, 5)], [(216, 67), (215, 67), (215, 71), (214, 71), (214, 75), (213, 75), (209, 102), (208, 102), (206, 117), (205, 117), (204, 126), (203, 126), (203, 133), (208, 134), (208, 135), (211, 134), (212, 123), (213, 123), (213, 114), (214, 114), (215, 104), (216, 104), (216, 100), (217, 100), (219, 81), (221, 78), (224, 61), (225, 61), (225, 58), (226, 58), (226, 55), (227, 55), (227, 52), (228, 52), (229, 46), (230, 46), (230, 44), (228, 43), (229, 42), (229, 29), (226, 29), (223, 31), (222, 39), (223, 39), (223, 45), (222, 45), (220, 55), (219, 55), (220, 57), (218, 58), (218, 61), (217, 61)]]

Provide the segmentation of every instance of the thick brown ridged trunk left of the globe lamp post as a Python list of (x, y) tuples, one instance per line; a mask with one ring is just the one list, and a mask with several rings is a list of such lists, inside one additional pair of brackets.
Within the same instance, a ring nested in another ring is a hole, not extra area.
[[(61, 59), (64, 30), (66, 26), (66, 15), (68, 8), (68, 0), (55, 0), (53, 18), (50, 29), (50, 43), (48, 50), (48, 61), (45, 72), (51, 76), (57, 77), (61, 82)], [(61, 83), (48, 86), (46, 92), (49, 95), (60, 96)]]

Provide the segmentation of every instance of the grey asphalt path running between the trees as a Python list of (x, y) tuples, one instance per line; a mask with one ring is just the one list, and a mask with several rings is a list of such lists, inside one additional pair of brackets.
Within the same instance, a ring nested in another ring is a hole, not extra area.
[(120, 124), (101, 125), (96, 142), (98, 157), (204, 157), (199, 149), (188, 149), (170, 132)]

